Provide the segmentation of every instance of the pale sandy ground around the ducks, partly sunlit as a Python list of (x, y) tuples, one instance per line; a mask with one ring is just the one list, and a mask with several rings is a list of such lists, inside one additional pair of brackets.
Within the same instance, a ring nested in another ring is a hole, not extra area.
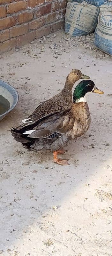
[[(63, 31), (50, 39), (66, 43)], [(95, 58), (83, 46), (65, 47), (54, 58), (49, 44), (29, 44), (0, 60), (0, 79), (19, 93), (17, 107), (0, 122), (0, 255), (111, 256), (112, 59)], [(72, 68), (104, 94), (88, 95), (91, 127), (66, 147), (70, 165), (59, 166), (48, 151), (22, 148), (10, 128), (62, 90)]]

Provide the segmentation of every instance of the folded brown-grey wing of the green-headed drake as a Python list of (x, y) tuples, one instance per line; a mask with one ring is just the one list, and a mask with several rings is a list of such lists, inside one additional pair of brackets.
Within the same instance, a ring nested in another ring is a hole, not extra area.
[(55, 113), (48, 114), (42, 117), (35, 123), (33, 129), (29, 125), (24, 135), (29, 138), (56, 138), (62, 136), (67, 131), (71, 130), (74, 125), (74, 118), (71, 111), (60, 110)]

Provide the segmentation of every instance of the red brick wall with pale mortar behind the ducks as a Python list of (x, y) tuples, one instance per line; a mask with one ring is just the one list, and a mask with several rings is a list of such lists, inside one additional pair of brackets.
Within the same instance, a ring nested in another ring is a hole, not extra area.
[(61, 29), (66, 0), (0, 0), (0, 52)]

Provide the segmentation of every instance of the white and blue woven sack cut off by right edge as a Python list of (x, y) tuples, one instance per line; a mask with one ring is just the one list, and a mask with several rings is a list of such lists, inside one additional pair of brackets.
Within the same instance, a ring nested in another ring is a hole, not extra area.
[(94, 45), (112, 56), (112, 2), (100, 7)]

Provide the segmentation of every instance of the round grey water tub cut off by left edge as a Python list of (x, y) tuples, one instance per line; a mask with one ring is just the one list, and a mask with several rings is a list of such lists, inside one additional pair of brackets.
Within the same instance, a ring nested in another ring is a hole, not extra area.
[[(8, 109), (0, 114), (0, 121), (13, 109), (18, 103), (18, 92), (10, 85), (0, 80), (0, 105), (8, 104)], [(1, 105), (2, 106), (2, 105)]]

